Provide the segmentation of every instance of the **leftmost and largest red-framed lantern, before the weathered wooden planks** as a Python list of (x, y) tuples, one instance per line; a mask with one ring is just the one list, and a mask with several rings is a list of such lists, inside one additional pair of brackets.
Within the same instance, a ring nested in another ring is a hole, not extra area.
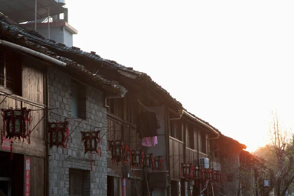
[[(1, 109), (3, 117), (3, 137), (18, 138), (21, 140), (30, 135), (28, 125), (31, 123), (30, 109)], [(30, 140), (29, 140), (30, 143)]]

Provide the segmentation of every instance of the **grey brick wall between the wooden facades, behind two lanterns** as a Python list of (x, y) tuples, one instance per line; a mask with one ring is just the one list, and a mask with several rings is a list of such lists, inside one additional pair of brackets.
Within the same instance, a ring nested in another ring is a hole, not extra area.
[[(59, 114), (72, 117), (71, 107), (71, 78), (54, 69), (49, 69), (49, 107), (59, 109), (54, 110)], [(69, 170), (77, 169), (80, 171), (90, 171), (90, 154), (84, 153), (83, 142), (81, 141), (80, 131), (101, 130), (101, 137), (104, 135), (107, 126), (107, 113), (103, 106), (103, 94), (91, 87), (86, 87), (86, 106), (87, 119), (83, 122), (93, 125), (80, 123), (70, 136), (68, 148), (52, 147), (50, 149), (49, 162), (49, 194), (50, 196), (69, 195)], [(50, 112), (50, 121), (64, 121), (65, 117)], [(80, 119), (75, 119), (80, 121)], [(68, 119), (69, 133), (78, 125), (78, 122)], [(104, 127), (104, 128), (103, 128)], [(107, 195), (107, 141), (106, 134), (101, 139), (101, 153), (98, 156), (93, 153), (93, 171), (83, 174), (86, 180), (83, 191), (86, 196), (106, 196)], [(90, 179), (87, 182), (87, 179)], [(88, 183), (88, 184), (87, 184)]]

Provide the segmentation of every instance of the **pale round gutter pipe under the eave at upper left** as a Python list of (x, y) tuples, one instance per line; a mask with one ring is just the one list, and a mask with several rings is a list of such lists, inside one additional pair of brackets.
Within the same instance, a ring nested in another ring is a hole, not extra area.
[(0, 45), (7, 46), (7, 47), (10, 47), (10, 48), (12, 48), (12, 49), (18, 49), (18, 50), (21, 50), (21, 51), (23, 51), (23, 52), (26, 52), (26, 53), (28, 53), (28, 54), (31, 54), (31, 55), (34, 55), (34, 56), (40, 57), (40, 58), (42, 58), (42, 59), (44, 59), (44, 60), (47, 60), (47, 61), (49, 61), (49, 62), (51, 62), (51, 63), (56, 64), (56, 65), (60, 65), (60, 66), (62, 66), (62, 67), (65, 67), (65, 66), (66, 66), (66, 63), (65, 63), (65, 62), (62, 62), (62, 61), (60, 61), (60, 60), (57, 60), (57, 59), (55, 59), (55, 58), (53, 58), (53, 57), (50, 57), (50, 56), (48, 56), (48, 55), (46, 55), (46, 54), (43, 54), (43, 53), (41, 53), (41, 52), (37, 52), (37, 51), (35, 51), (35, 50), (28, 49), (28, 48), (25, 48), (25, 47), (20, 46), (20, 45), (17, 45), (17, 44), (13, 44), (13, 43), (11, 43), (11, 42), (7, 42), (7, 41), (4, 41), (4, 40), (0, 40)]

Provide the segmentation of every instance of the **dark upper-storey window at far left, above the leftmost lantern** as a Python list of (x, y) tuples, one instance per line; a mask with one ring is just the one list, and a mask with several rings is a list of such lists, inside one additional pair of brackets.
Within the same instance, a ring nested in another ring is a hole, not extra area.
[(0, 86), (22, 96), (22, 57), (0, 49)]

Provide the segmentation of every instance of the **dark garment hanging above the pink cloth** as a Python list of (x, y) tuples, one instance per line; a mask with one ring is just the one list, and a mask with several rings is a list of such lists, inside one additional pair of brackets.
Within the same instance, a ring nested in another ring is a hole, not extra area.
[(158, 136), (159, 120), (154, 112), (144, 112), (138, 115), (137, 133), (139, 138)]

